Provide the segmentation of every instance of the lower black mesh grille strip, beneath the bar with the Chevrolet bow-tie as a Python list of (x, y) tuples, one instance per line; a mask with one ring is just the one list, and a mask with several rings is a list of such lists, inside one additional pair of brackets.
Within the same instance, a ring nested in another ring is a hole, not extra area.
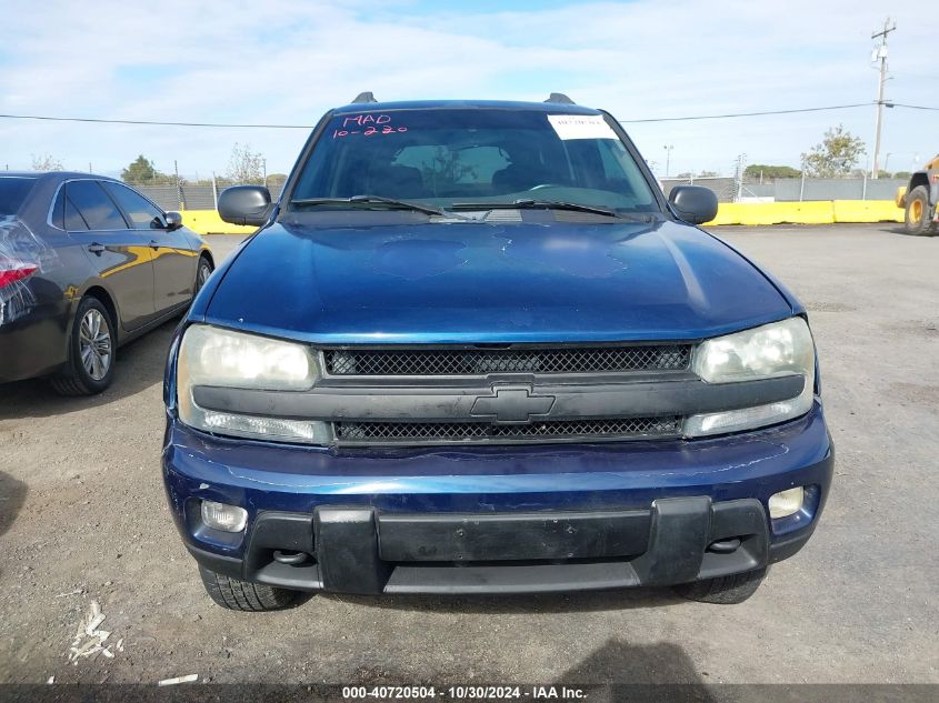
[(362, 443), (434, 443), (531, 440), (618, 440), (675, 436), (681, 418), (551, 420), (528, 424), (488, 422), (336, 422), (336, 439)]

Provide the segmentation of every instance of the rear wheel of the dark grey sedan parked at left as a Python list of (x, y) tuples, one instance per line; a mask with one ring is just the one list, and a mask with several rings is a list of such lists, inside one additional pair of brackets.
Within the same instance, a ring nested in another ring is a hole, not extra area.
[(94, 395), (114, 379), (117, 334), (111, 314), (97, 298), (82, 298), (69, 337), (69, 361), (52, 376), (62, 395)]

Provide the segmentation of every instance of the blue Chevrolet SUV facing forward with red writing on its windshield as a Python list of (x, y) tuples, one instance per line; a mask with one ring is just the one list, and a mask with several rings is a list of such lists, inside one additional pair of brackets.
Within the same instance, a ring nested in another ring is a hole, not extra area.
[(737, 603), (832, 472), (806, 310), (545, 103), (327, 113), (176, 333), (163, 475), (212, 599), (669, 585)]

